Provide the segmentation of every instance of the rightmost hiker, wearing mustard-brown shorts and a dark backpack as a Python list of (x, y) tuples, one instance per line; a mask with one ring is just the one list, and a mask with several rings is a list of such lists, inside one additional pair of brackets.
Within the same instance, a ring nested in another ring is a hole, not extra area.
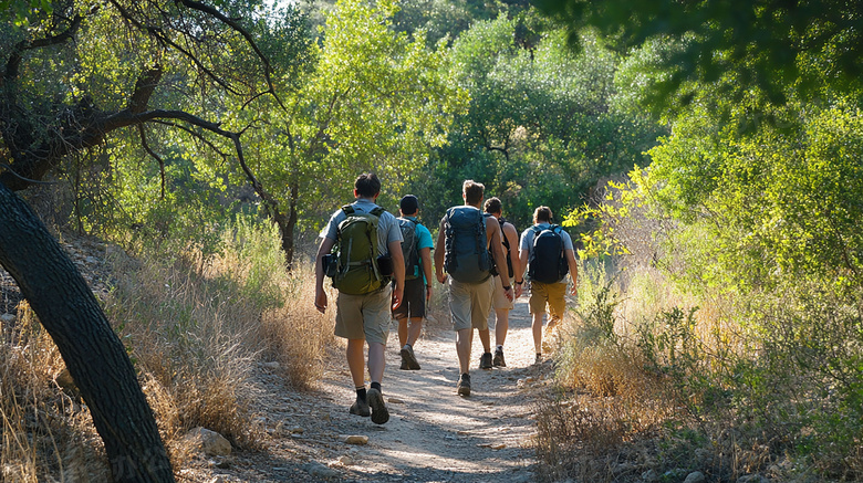
[(539, 207), (533, 212), (533, 227), (521, 233), (520, 262), (523, 270), (528, 269), (530, 280), (530, 314), (532, 316), (533, 346), (537, 349), (536, 363), (542, 361), (542, 348), (547, 350), (551, 346), (547, 342), (542, 344), (542, 317), (545, 315), (545, 306), (549, 308), (549, 323), (545, 327), (545, 336), (550, 337), (557, 329), (558, 323), (563, 319), (563, 311), (566, 301), (563, 298), (566, 292), (566, 273), (572, 275), (572, 288), (570, 293), (576, 294), (579, 279), (575, 265), (575, 253), (572, 248), (572, 239), (560, 225), (552, 224), (552, 214), (549, 207)]

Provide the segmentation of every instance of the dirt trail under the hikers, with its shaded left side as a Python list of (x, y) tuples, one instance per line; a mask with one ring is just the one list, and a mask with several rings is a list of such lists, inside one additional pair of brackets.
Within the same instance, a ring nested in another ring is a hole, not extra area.
[[(222, 481), (533, 481), (529, 389), (541, 378), (534, 366), (527, 297), (510, 314), (508, 367), (478, 369), (482, 346), (474, 338), (471, 396), (456, 395), (458, 364), (448, 324), (428, 324), (415, 347), (422, 370), (399, 370), (395, 327), (387, 345), (383, 392), (391, 419), (383, 426), (347, 413), (353, 401), (343, 359), (325, 374), (321, 391), (285, 393), (262, 381), (270, 400), (261, 421), (272, 439), (257, 455), (238, 454), (228, 468), (211, 468)], [(491, 330), (493, 348), (495, 334)], [(270, 375), (275, 382), (278, 377)], [(347, 435), (367, 437), (349, 444)], [(211, 465), (216, 463), (210, 462)]]

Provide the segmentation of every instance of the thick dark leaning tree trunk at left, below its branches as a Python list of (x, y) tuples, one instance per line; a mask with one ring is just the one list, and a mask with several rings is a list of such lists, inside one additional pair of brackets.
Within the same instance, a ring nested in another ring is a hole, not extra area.
[(153, 412), (93, 292), (27, 203), (0, 182), (0, 264), (60, 349), (115, 482), (174, 482)]

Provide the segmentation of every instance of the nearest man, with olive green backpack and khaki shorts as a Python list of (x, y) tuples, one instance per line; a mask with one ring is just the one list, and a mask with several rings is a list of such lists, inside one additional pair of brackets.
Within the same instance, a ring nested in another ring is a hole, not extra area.
[[(381, 180), (363, 174), (354, 182), (356, 201), (336, 210), (321, 231), (321, 245), (314, 264), (314, 306), (326, 312), (324, 274), (339, 291), (335, 301), (335, 335), (347, 339), (347, 367), (351, 369), (356, 401), (351, 414), (372, 417), (383, 424), (389, 420), (381, 389), (384, 377), (389, 314), (402, 304), (405, 287), (405, 262), (402, 255), (402, 230), (395, 217), (375, 204)], [(335, 246), (333, 253), (331, 250)], [(391, 276), (395, 285), (391, 285)], [(392, 305), (391, 305), (392, 304)], [(368, 344), (366, 391), (363, 342)]]

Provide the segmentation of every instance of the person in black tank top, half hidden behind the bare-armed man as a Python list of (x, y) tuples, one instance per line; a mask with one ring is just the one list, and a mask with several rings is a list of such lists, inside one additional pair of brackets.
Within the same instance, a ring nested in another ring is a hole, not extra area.
[[(516, 280), (517, 273), (519, 275), (523, 273), (518, 252), (519, 232), (516, 230), (514, 224), (503, 219), (503, 204), (497, 197), (491, 197), (486, 200), (484, 209), (486, 210), (487, 221), (493, 220), (500, 225), (503, 251), (507, 254), (506, 272), (509, 280), (516, 281), (514, 297), (518, 298), (521, 296), (521, 285), (524, 283), (523, 280)], [(497, 319), (495, 322), (495, 344), (497, 345), (495, 348), (495, 358), (491, 361), (481, 360), (481, 363), (486, 364), (480, 364), (480, 369), (491, 369), (492, 366), (507, 367), (507, 361), (503, 358), (503, 343), (507, 340), (507, 332), (509, 330), (509, 311), (513, 309), (516, 306), (511, 300), (507, 298), (503, 291), (503, 282), (501, 281), (500, 274), (497, 273), (502, 270), (503, 267), (497, 266), (496, 272), (492, 273), (495, 276), (495, 294), (492, 295), (491, 307), (495, 309), (495, 317)], [(486, 337), (489, 337), (488, 330), (489, 329), (487, 328)], [(479, 333), (479, 338), (482, 339), (482, 332)]]

